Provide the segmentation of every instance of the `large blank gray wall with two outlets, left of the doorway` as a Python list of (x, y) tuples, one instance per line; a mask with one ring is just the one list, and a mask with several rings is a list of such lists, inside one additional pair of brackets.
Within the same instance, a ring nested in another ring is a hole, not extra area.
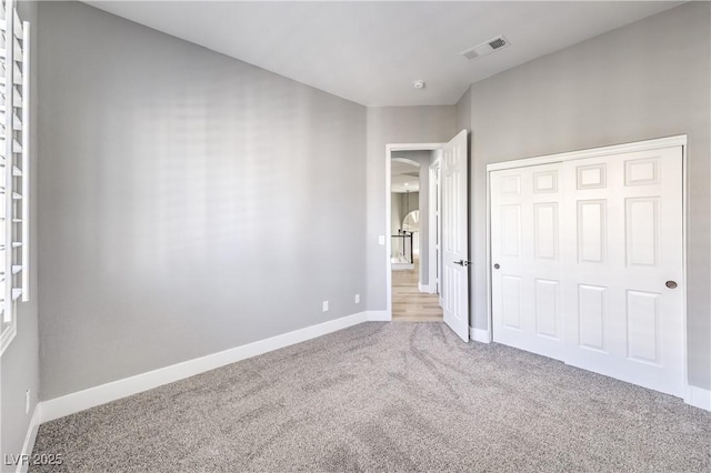
[(79, 2), (39, 21), (42, 399), (365, 310), (364, 107)]

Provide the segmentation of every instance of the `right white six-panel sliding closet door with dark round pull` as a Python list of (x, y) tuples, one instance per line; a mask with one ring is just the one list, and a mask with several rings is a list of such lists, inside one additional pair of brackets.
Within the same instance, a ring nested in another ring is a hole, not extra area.
[(681, 147), (569, 161), (562, 181), (565, 362), (683, 396)]

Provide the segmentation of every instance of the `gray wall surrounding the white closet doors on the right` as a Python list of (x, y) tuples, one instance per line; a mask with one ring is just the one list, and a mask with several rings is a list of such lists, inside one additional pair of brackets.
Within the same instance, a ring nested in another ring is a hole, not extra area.
[(690, 2), (472, 84), (474, 326), (488, 324), (487, 163), (687, 133), (689, 381), (711, 388), (710, 8)]

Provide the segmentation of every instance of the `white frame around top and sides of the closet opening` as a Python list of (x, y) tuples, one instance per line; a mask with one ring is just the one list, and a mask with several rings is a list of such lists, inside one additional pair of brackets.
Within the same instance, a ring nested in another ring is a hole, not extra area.
[(678, 134), (673, 137), (659, 138), (644, 141), (634, 141), (629, 143), (612, 144), (609, 147), (590, 148), (579, 151), (570, 151), (557, 154), (547, 154), (535, 158), (524, 158), (512, 161), (503, 161), (498, 163), (487, 164), (487, 311), (489, 323), (489, 340), (493, 340), (493, 310), (492, 310), (492, 271), (491, 271), (491, 173), (493, 171), (500, 171), (504, 169), (524, 168), (539, 164), (550, 164), (555, 162), (573, 161), (584, 158), (600, 158), (611, 154), (630, 153), (634, 151), (649, 151), (660, 148), (681, 147), (681, 254), (682, 254), (682, 281), (684, 292), (682, 294), (683, 304), (683, 318), (682, 318), (682, 333), (683, 333), (683, 360), (684, 360), (684, 383), (687, 385), (687, 394), (684, 401), (689, 403), (691, 397), (689, 389), (689, 356), (688, 356), (688, 341), (687, 341), (687, 227), (689, 205), (689, 187), (687, 185), (687, 147), (688, 137), (685, 134)]

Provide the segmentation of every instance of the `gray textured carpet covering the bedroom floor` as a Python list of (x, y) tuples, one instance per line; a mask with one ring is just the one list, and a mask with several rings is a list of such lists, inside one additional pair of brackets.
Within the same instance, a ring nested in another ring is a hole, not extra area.
[(71, 472), (711, 471), (711, 413), (441, 323), (364, 323), (42, 424)]

